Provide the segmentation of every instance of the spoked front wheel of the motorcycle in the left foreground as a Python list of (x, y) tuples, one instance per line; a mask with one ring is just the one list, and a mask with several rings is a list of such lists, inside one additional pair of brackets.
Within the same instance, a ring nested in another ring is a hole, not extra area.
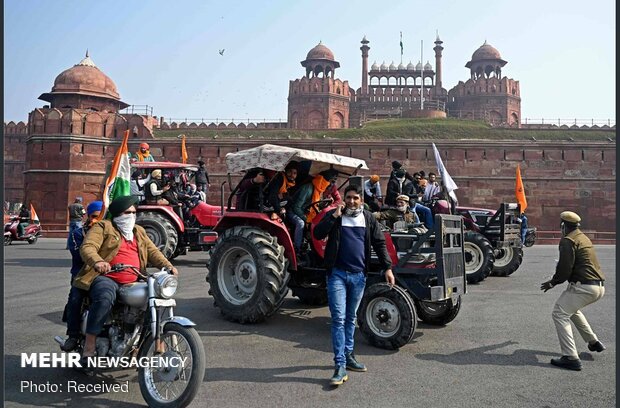
[[(196, 396), (205, 375), (204, 346), (194, 328), (176, 323), (166, 325), (161, 341), (165, 346), (163, 357), (187, 360), (183, 367), (141, 367), (138, 370), (140, 392), (149, 407), (186, 407)], [(140, 357), (156, 357), (152, 335), (140, 348)]]

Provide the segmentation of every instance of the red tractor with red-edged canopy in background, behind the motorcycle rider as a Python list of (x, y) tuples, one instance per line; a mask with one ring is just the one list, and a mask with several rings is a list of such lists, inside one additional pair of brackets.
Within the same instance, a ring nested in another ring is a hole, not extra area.
[[(151, 172), (162, 171), (165, 183), (179, 191), (184, 190), (193, 174), (198, 170), (194, 165), (174, 162), (133, 162), (131, 163), (134, 188), (147, 187)], [(140, 177), (140, 178), (138, 178)], [(139, 186), (139, 187), (137, 187)], [(135, 193), (135, 191), (134, 191)], [(138, 204), (136, 223), (146, 230), (146, 234), (168, 259), (184, 255), (188, 250), (208, 249), (217, 239), (213, 227), (222, 216), (222, 207), (179, 195), (181, 205)]]

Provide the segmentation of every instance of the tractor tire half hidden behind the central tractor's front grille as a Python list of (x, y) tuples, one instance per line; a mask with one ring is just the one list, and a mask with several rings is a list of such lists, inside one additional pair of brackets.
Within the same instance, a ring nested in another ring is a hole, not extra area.
[(473, 231), (465, 231), (464, 241), (467, 283), (481, 282), (493, 269), (493, 246), (484, 235)]

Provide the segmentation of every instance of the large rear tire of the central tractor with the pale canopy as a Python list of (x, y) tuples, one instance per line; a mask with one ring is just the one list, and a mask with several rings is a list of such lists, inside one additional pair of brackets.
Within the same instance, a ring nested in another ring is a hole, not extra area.
[(284, 247), (276, 237), (256, 227), (233, 227), (211, 250), (209, 292), (227, 320), (258, 323), (284, 301), (287, 268)]

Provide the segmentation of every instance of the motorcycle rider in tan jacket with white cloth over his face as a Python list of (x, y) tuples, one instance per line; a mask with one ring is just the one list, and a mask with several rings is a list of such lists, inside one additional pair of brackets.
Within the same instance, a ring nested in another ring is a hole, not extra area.
[(83, 357), (95, 355), (97, 335), (114, 305), (119, 286), (137, 280), (137, 276), (130, 270), (108, 273), (112, 265), (132, 265), (142, 272), (146, 271), (147, 265), (152, 265), (168, 268), (175, 275), (178, 273), (149, 239), (144, 228), (135, 225), (137, 202), (134, 196), (114, 199), (109, 206), (112, 220), (94, 224), (80, 248), (84, 266), (73, 285), (89, 290), (91, 300)]

